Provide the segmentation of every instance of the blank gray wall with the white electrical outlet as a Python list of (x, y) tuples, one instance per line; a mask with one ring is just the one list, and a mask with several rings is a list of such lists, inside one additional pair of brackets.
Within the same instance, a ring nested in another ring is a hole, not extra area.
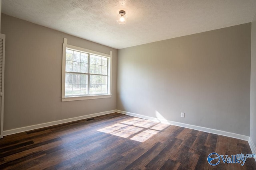
[(120, 49), (117, 109), (249, 136), (250, 57), (251, 23)]

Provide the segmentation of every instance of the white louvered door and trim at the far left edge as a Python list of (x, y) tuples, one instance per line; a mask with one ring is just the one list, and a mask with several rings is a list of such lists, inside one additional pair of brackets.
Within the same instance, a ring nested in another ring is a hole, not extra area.
[(0, 36), (0, 138), (4, 136), (4, 55), (5, 35)]

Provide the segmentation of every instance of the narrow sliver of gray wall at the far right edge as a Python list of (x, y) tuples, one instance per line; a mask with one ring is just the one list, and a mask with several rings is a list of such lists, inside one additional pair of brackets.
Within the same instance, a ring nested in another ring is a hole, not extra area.
[(256, 146), (256, 16), (252, 21), (250, 137)]

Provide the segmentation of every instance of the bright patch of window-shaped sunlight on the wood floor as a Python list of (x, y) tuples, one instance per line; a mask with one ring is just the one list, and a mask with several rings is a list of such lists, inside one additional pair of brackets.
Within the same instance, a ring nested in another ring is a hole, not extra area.
[(169, 125), (152, 122), (150, 120), (132, 118), (127, 121), (122, 121), (121, 123), (104, 127), (98, 131), (119, 137), (129, 138), (138, 142), (144, 142), (168, 126)]

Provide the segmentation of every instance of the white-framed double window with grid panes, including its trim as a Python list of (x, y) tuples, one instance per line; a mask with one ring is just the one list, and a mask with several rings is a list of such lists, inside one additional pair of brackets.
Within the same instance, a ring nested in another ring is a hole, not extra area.
[(62, 101), (111, 97), (110, 55), (67, 44), (62, 54)]

